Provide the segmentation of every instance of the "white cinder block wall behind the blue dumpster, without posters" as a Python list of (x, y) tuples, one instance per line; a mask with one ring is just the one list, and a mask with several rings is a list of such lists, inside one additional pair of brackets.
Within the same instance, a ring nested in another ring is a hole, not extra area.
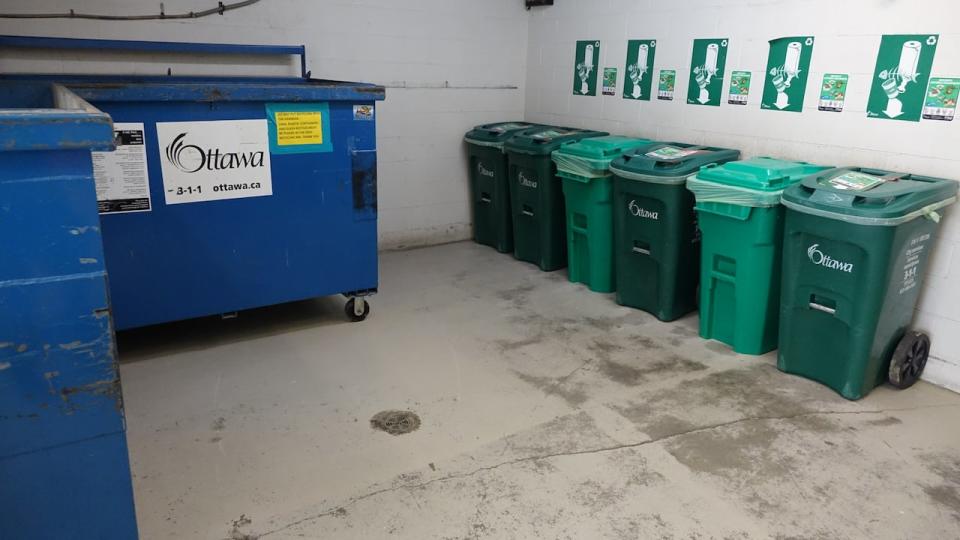
[[(167, 13), (216, 5), (165, 0)], [(3, 0), (2, 12), (139, 14), (160, 2)], [(380, 243), (383, 248), (468, 238), (463, 134), (477, 124), (523, 117), (527, 12), (520, 0), (263, 0), (187, 21), (0, 19), (0, 33), (59, 37), (305, 44), (317, 78), (386, 85), (377, 109)], [(292, 62), (0, 52), (4, 72), (299, 74)]]

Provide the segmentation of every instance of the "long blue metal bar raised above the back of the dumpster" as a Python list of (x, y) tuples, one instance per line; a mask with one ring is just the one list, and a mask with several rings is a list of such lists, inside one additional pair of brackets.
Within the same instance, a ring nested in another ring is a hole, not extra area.
[(303, 45), (245, 45), (239, 43), (190, 43), (184, 41), (138, 41), (126, 39), (81, 39), (32, 36), (0, 36), (0, 48), (11, 49), (97, 49), (187, 54), (254, 54), (300, 57), (300, 76), (310, 78), (307, 50)]

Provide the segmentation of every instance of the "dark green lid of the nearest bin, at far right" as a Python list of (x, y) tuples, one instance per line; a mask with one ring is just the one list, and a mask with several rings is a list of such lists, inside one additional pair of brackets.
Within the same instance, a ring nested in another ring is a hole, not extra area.
[(863, 167), (839, 167), (783, 192), (801, 212), (868, 225), (896, 225), (952, 204), (957, 182)]

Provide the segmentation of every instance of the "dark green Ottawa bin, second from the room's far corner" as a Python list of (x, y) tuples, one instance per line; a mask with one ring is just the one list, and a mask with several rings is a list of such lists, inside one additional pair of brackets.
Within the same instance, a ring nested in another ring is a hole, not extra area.
[(563, 189), (550, 154), (561, 146), (607, 133), (540, 126), (504, 145), (513, 215), (513, 256), (552, 271), (567, 265)]

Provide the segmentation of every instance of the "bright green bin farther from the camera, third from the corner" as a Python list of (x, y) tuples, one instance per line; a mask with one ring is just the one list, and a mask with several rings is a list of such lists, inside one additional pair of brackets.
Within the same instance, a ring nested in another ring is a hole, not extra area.
[(618, 135), (583, 139), (553, 152), (563, 183), (567, 275), (596, 292), (613, 292), (613, 178), (610, 162), (653, 141)]

